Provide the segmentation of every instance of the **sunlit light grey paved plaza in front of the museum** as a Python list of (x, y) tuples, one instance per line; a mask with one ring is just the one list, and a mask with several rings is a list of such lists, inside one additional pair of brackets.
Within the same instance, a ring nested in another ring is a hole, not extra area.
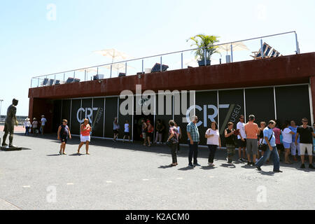
[(188, 169), (185, 147), (179, 167), (170, 168), (166, 146), (98, 139), (91, 155), (78, 156), (74, 138), (59, 156), (55, 136), (16, 134), (14, 141), (23, 151), (0, 151), (0, 209), (315, 209), (315, 172), (299, 163), (281, 167), (283, 174), (271, 165), (230, 168), (221, 150), (209, 169), (201, 148), (204, 167)]

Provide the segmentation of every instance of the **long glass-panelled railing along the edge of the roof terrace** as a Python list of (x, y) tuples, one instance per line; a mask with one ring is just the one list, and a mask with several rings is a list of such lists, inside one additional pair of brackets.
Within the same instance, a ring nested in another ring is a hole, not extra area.
[[(294, 34), (294, 36), (293, 37), (288, 36), (289, 34)], [(283, 37), (285, 35), (286, 37)], [(282, 36), (281, 40), (276, 39), (276, 36)], [(257, 42), (257, 40), (260, 40), (260, 41)], [(242, 43), (246, 42), (247, 49), (242, 50), (241, 52), (233, 49), (234, 48), (233, 45), (239, 42), (242, 42)], [(270, 45), (267, 44), (270, 42), (272, 43), (271, 45), (274, 48), (270, 48)], [(299, 43), (297, 41), (297, 34), (295, 31), (289, 31), (289, 32), (284, 32), (280, 34), (272, 34), (272, 35), (267, 35), (267, 36), (259, 36), (255, 38), (247, 38), (244, 40), (232, 41), (232, 42), (227, 42), (227, 43), (218, 43), (216, 45), (207, 46), (206, 48), (224, 46), (225, 48), (227, 48), (225, 63), (231, 63), (231, 62), (241, 62), (241, 61), (246, 61), (249, 59), (255, 59), (255, 55), (259, 55), (259, 53), (260, 53), (260, 58), (262, 59), (265, 57), (270, 57), (266, 55), (266, 52), (267, 52), (266, 45), (267, 45), (267, 48), (270, 48), (268, 52), (272, 52), (272, 51), (277, 52), (278, 55), (272, 55), (272, 57), (280, 56), (280, 52), (281, 52), (281, 55), (293, 55), (294, 53), (295, 54), (300, 53)], [(260, 50), (257, 50), (257, 48)], [(152, 70), (145, 68), (145, 63), (151, 64), (151, 66), (153, 66), (154, 64), (157, 65), (158, 63), (158, 71), (166, 71), (167, 69), (169, 70), (183, 69), (184, 65), (188, 65), (188, 67), (197, 66), (193, 62), (194, 59), (192, 59), (192, 54), (191, 54), (191, 52), (194, 52), (197, 49), (198, 48), (193, 48), (193, 49), (188, 49), (188, 50), (179, 50), (176, 52), (168, 52), (168, 53), (164, 53), (160, 55), (139, 57), (136, 59), (127, 59), (120, 62), (113, 62), (113, 63), (102, 64), (102, 65), (97, 65), (97, 66), (89, 66), (82, 69), (73, 69), (73, 70), (63, 71), (59, 73), (50, 73), (43, 76), (35, 76), (31, 78), (31, 87), (59, 85), (59, 84), (64, 84), (64, 83), (75, 83), (75, 82), (80, 82), (83, 80), (87, 81), (87, 80), (92, 80), (92, 79), (112, 78), (113, 76), (115, 76), (114, 70), (116, 69), (117, 69), (118, 76), (120, 75), (127, 76), (127, 72), (129, 72), (132, 75), (151, 73)], [(271, 51), (271, 49), (273, 50)], [(190, 55), (188, 55), (189, 52), (190, 52)], [(206, 50), (203, 50), (203, 52), (206, 53)], [(228, 55), (228, 52), (230, 52), (230, 55)], [(254, 56), (251, 54), (254, 54)], [(212, 55), (211, 64), (221, 64), (223, 60), (222, 60), (222, 54), (220, 55), (221, 57), (219, 58), (217, 57), (218, 54)], [(188, 58), (188, 59), (186, 60), (184, 58)], [(207, 57), (205, 57), (205, 55), (203, 59), (204, 59), (204, 64), (207, 64), (208, 63)], [(168, 65), (164, 66), (163, 63), (172, 64), (172, 66), (170, 67)], [(119, 73), (121, 69), (123, 69), (125, 73)], [(92, 73), (92, 76), (89, 76), (90, 73)], [(106, 73), (106, 77), (105, 77), (105, 73)], [(141, 78), (141, 76), (139, 76), (139, 78)]]

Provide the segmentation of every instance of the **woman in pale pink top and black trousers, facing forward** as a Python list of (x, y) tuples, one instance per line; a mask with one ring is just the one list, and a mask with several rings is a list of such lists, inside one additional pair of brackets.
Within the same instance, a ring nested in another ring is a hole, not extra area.
[(205, 137), (207, 139), (207, 146), (209, 148), (208, 165), (210, 167), (214, 167), (214, 156), (216, 155), (216, 149), (218, 147), (221, 148), (221, 138), (216, 122), (211, 123), (211, 128), (207, 130)]

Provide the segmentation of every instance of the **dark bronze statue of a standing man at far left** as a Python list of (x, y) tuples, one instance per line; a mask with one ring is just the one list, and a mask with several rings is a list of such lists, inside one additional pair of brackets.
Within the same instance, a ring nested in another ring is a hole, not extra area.
[[(18, 105), (18, 99), (13, 99), (12, 104), (8, 107), (6, 112), (6, 123), (4, 125), (4, 135), (2, 146), (9, 146), (10, 148), (16, 148), (13, 146), (13, 134), (14, 134), (14, 125), (18, 126), (18, 120), (16, 119), (16, 106)], [(9, 136), (9, 145), (6, 144), (6, 137)]]

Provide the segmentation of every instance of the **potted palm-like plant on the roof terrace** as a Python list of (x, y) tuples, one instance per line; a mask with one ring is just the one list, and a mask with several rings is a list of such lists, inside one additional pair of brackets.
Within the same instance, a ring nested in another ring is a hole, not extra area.
[(206, 57), (207, 65), (211, 64), (211, 56), (214, 53), (219, 53), (217, 50), (217, 46), (214, 46), (214, 43), (218, 42), (218, 36), (209, 36), (204, 34), (198, 34), (196, 36), (190, 37), (188, 41), (193, 41), (194, 43), (191, 45), (197, 46), (197, 49), (194, 50), (195, 58), (198, 61), (199, 66), (204, 66), (204, 57)]

